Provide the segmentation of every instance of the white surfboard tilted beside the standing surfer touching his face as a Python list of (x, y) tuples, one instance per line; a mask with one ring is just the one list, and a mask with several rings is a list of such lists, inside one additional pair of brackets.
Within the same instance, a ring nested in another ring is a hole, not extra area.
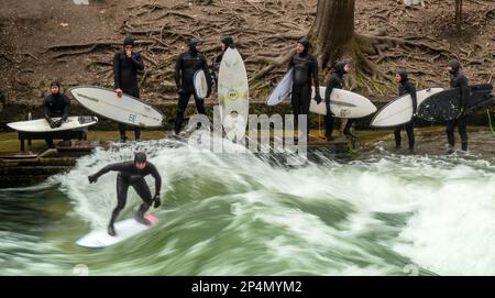
[(160, 128), (164, 120), (152, 106), (128, 95), (118, 97), (112, 89), (79, 86), (70, 88), (69, 93), (86, 109), (120, 123)]

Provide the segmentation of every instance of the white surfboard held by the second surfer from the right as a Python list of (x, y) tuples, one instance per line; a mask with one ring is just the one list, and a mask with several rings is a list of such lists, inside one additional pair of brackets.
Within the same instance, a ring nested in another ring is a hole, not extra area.
[[(429, 88), (416, 92), (417, 103), (421, 104), (428, 97), (443, 91), (443, 88)], [(388, 102), (373, 118), (371, 128), (393, 128), (405, 124), (413, 118), (413, 99), (410, 95)]]

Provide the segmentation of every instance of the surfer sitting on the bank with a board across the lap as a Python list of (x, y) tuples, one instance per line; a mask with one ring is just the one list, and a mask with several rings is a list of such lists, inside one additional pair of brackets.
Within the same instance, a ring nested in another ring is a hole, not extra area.
[[(59, 128), (70, 113), (70, 99), (61, 93), (61, 82), (58, 80), (50, 84), (51, 95), (43, 100), (43, 117), (48, 122), (52, 129)], [(53, 121), (52, 118), (61, 117), (59, 120)], [(64, 142), (70, 141), (70, 131), (66, 131), (63, 135)], [(45, 137), (48, 147), (54, 148), (53, 136), (47, 134)]]

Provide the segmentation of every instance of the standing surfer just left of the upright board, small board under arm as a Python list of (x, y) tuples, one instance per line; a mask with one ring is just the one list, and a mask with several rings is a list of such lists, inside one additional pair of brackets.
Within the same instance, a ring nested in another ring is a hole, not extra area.
[(211, 77), (208, 71), (208, 64), (205, 56), (201, 54), (201, 44), (202, 42), (198, 38), (191, 38), (189, 41), (189, 51), (180, 54), (177, 57), (177, 62), (175, 64), (175, 82), (177, 86), (177, 93), (179, 96), (178, 99), (178, 109), (177, 109), (177, 118), (175, 120), (175, 134), (180, 132), (184, 122), (184, 113), (187, 108), (187, 103), (189, 102), (190, 96), (193, 95), (195, 98), (196, 109), (198, 113), (205, 114), (205, 99), (198, 98), (195, 92), (195, 84), (194, 77), (196, 71), (202, 69), (205, 71), (205, 76), (208, 85), (208, 92), (206, 98), (208, 98), (211, 93)]

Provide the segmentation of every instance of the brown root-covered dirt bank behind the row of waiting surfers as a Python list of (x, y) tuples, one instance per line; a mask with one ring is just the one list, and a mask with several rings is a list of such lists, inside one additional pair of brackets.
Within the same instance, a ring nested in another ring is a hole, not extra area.
[[(89, 4), (76, 4), (88, 2)], [(38, 104), (53, 78), (64, 87), (81, 84), (112, 88), (112, 57), (127, 34), (144, 56), (142, 98), (175, 100), (174, 66), (186, 41), (198, 36), (208, 62), (219, 53), (219, 40), (231, 34), (245, 55), (253, 78), (295, 47), (315, 19), (317, 0), (3, 0), (0, 9), (1, 104)], [(206, 3), (206, 4), (205, 4)], [(356, 0), (355, 31), (396, 37), (367, 53), (392, 76), (398, 67), (411, 73), (419, 87), (447, 86), (446, 62), (458, 56), (471, 84), (492, 82), (495, 73), (495, 1), (464, 1), (464, 23), (455, 31), (453, 0), (425, 1), (405, 8), (396, 0)], [(252, 79), (252, 97), (263, 100), (286, 67)], [(321, 78), (324, 81), (324, 78)], [(393, 96), (363, 88), (371, 98)]]

